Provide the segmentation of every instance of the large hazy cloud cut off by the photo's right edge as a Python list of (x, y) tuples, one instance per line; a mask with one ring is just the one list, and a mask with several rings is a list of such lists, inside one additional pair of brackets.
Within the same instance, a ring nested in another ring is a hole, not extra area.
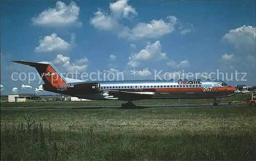
[(222, 41), (223, 40), (234, 45), (236, 48), (249, 45), (255, 50), (256, 28), (250, 25), (243, 25), (240, 28), (230, 30), (223, 36)]

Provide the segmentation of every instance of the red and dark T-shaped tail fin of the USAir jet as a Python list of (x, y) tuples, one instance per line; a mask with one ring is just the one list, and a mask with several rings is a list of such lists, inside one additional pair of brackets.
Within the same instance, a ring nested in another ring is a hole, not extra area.
[(35, 67), (45, 84), (58, 88), (60, 85), (68, 83), (58, 69), (50, 62), (25, 62), (25, 61), (12, 61), (14, 63), (25, 64)]

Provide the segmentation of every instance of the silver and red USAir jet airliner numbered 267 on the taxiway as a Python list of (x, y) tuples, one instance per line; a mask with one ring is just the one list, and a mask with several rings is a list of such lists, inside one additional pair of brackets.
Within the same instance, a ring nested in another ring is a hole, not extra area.
[(63, 76), (50, 62), (12, 61), (35, 67), (41, 75), (45, 91), (90, 100), (122, 100), (122, 107), (134, 106), (132, 101), (145, 99), (217, 99), (233, 96), (238, 90), (221, 80), (134, 80), (82, 81)]

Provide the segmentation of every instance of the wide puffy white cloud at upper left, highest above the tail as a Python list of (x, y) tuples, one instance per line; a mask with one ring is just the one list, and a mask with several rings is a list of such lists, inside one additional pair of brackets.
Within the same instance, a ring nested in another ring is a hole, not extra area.
[(75, 2), (71, 2), (69, 5), (58, 1), (55, 8), (49, 8), (41, 12), (38, 16), (32, 18), (32, 22), (35, 25), (41, 26), (78, 26), (82, 25), (79, 21), (80, 8)]

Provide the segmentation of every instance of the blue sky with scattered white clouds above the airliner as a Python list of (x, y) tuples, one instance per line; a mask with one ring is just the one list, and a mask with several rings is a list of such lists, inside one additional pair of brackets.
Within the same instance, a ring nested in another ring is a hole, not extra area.
[[(28, 77), (36, 70), (11, 60), (49, 61), (64, 73), (122, 73), (124, 79), (219, 71), (233, 86), (256, 84), (255, 1), (4, 1), (1, 12), (1, 94), (43, 84), (14, 81), (13, 72)], [(236, 70), (247, 73), (238, 74), (243, 80), (235, 80)]]

